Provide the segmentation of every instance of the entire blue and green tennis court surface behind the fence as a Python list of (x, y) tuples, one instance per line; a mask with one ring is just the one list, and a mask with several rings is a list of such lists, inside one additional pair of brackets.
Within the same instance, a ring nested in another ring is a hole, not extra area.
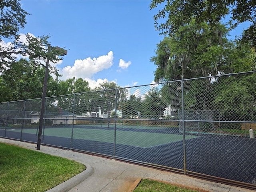
[[(72, 132), (73, 131), (73, 132)], [(1, 128), (1, 136), (37, 141), (37, 128)], [(42, 143), (114, 156), (164, 167), (184, 169), (183, 135), (178, 128), (87, 124), (44, 128)], [(186, 133), (189, 172), (252, 183), (256, 178), (256, 140), (228, 135)], [(240, 166), (237, 166), (239, 164)], [(245, 169), (250, 164), (250, 169)]]

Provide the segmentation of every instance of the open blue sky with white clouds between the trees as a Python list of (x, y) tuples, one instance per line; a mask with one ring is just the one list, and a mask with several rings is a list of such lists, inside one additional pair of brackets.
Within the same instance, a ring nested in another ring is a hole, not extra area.
[[(20, 33), (50, 35), (52, 46), (68, 54), (56, 65), (67, 78), (83, 78), (94, 88), (104, 80), (119, 86), (151, 84), (150, 62), (163, 39), (154, 28), (149, 0), (21, 0), (31, 15)], [(238, 31), (237, 31), (238, 30)], [(240, 35), (243, 26), (230, 34)]]

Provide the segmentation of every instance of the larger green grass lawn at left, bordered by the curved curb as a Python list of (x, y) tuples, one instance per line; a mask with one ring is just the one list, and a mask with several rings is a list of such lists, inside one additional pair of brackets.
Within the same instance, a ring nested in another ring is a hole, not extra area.
[(85, 170), (78, 162), (0, 143), (0, 191), (45, 192)]

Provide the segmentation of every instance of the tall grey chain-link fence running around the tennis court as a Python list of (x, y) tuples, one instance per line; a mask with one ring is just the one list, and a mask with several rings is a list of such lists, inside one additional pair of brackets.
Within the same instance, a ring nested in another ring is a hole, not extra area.
[[(0, 104), (1, 137), (38, 141), (42, 99)], [(256, 189), (256, 72), (48, 97), (42, 144)]]

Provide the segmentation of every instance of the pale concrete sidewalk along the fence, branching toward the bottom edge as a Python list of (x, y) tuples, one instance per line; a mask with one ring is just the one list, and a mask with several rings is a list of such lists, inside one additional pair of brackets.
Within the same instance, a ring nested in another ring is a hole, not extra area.
[(200, 180), (182, 174), (175, 174), (71, 150), (43, 145), (40, 150), (36, 150), (36, 144), (3, 138), (0, 141), (6, 144), (13, 144), (46, 154), (68, 158), (86, 165), (84, 172), (48, 190), (48, 192), (132, 192), (141, 178), (149, 178), (204, 192), (255, 192), (254, 190)]

